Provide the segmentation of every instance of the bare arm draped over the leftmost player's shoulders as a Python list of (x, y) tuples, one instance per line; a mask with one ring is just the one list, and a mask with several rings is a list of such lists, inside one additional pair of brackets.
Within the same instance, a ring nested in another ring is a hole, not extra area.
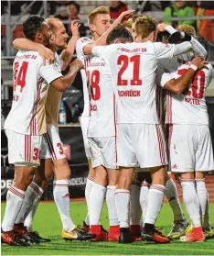
[(55, 56), (52, 50), (49, 50), (44, 45), (31, 41), (29, 39), (15, 39), (13, 41), (13, 47), (16, 50), (35, 50), (41, 56), (43, 64), (45, 65), (46, 60), (49, 64), (54, 62)]

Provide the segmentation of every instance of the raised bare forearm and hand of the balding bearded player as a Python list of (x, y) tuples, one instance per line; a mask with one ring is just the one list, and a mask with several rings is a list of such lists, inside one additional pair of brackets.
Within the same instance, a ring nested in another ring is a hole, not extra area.
[(61, 70), (64, 71), (68, 65), (70, 64), (70, 61), (73, 57), (73, 53), (76, 47), (76, 42), (79, 39), (79, 28), (80, 28), (80, 21), (78, 19), (75, 19), (70, 24), (70, 30), (72, 32), (72, 37), (70, 39), (70, 42), (68, 44), (68, 47), (66, 50), (63, 50), (60, 58), (63, 61)]

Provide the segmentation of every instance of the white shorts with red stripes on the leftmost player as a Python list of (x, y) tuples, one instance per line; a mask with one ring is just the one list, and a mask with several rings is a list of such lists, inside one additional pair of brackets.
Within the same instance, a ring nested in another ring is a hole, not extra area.
[(40, 164), (42, 135), (32, 136), (6, 129), (8, 161), (15, 166), (37, 166)]

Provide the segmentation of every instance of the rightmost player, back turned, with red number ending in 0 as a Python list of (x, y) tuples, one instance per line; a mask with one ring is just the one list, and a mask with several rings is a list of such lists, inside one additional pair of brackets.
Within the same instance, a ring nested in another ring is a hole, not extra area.
[[(191, 26), (180, 26), (178, 30), (195, 35), (195, 29)], [(189, 66), (191, 67), (189, 61), (192, 56), (191, 52), (177, 56), (171, 65), (169, 63), (167, 69), (164, 70), (161, 66), (158, 69), (161, 85), (171, 92), (166, 101), (166, 123), (170, 128), (170, 167), (173, 173), (179, 174), (183, 201), (191, 219), (191, 231), (187, 236), (181, 237), (181, 240), (186, 242), (204, 241), (202, 227), (205, 231), (210, 229), (204, 225), (208, 204), (205, 172), (214, 170), (209, 115), (205, 101), (206, 89), (212, 79), (212, 66), (208, 64), (198, 71), (196, 68), (194, 78), (185, 92), (170, 88), (172, 79), (180, 77)]]

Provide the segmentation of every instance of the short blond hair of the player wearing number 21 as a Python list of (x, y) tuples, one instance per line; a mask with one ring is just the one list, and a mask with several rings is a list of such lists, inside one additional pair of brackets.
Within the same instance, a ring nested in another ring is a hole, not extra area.
[(136, 36), (141, 36), (142, 39), (147, 38), (157, 26), (155, 18), (149, 16), (137, 17), (134, 24)]

